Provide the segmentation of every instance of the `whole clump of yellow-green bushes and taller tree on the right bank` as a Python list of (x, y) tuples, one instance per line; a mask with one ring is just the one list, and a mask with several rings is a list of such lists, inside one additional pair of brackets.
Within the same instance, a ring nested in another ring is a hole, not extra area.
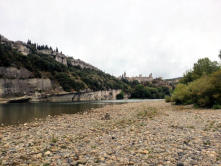
[[(221, 52), (219, 54), (221, 59)], [(202, 58), (187, 71), (166, 101), (194, 104), (196, 107), (221, 108), (221, 66)]]

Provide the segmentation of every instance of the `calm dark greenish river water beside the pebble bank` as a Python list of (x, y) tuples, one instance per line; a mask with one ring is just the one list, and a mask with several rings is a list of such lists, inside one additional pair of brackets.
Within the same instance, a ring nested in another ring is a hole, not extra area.
[(0, 125), (13, 125), (45, 119), (47, 116), (74, 114), (110, 104), (145, 102), (149, 100), (104, 100), (68, 103), (0, 104)]

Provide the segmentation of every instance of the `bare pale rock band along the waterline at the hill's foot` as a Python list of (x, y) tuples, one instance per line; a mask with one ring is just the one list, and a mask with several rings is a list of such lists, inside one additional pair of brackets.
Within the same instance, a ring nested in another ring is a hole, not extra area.
[(72, 93), (40, 99), (46, 94), (63, 93), (62, 88), (48, 78), (34, 78), (25, 68), (0, 67), (0, 98), (32, 96), (32, 101), (114, 100), (120, 90)]

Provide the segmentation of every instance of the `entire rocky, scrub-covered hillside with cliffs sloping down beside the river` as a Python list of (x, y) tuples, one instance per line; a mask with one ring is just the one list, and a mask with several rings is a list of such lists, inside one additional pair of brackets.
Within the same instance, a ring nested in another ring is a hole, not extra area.
[(81, 98), (100, 100), (110, 96), (105, 91), (125, 86), (117, 78), (80, 59), (67, 57), (57, 48), (30, 40), (14, 42), (0, 35), (0, 98), (31, 96), (37, 101), (41, 97), (90, 91), (93, 97)]

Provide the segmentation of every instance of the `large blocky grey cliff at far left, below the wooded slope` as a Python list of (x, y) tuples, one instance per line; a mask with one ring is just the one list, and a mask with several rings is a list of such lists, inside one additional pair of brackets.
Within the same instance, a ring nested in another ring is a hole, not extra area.
[(0, 67), (0, 97), (32, 96), (36, 92), (50, 92), (55, 88), (48, 78), (34, 78), (25, 68)]

